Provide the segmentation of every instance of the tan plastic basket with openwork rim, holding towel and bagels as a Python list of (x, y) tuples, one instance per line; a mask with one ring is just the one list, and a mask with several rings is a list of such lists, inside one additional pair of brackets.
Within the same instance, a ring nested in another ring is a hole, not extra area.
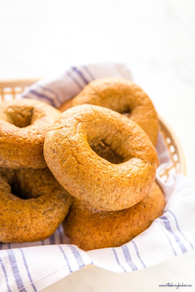
[[(0, 100), (17, 98), (25, 88), (39, 79), (40, 78), (0, 81)], [(163, 169), (163, 172), (160, 173), (161, 178), (166, 181), (170, 173), (182, 173), (186, 175), (185, 157), (177, 136), (161, 116), (159, 116), (159, 122), (161, 133), (165, 138), (171, 157), (168, 168)]]

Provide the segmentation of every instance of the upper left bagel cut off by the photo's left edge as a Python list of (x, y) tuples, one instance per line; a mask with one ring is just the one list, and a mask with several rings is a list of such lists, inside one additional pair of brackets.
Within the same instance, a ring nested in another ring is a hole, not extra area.
[(0, 167), (45, 168), (45, 135), (59, 115), (38, 100), (0, 102)]

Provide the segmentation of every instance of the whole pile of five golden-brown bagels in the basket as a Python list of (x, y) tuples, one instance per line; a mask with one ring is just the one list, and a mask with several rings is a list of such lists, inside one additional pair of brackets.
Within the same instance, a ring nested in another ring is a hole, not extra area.
[(121, 78), (90, 82), (62, 108), (0, 104), (0, 241), (43, 240), (65, 219), (71, 244), (121, 246), (165, 206), (156, 111)]

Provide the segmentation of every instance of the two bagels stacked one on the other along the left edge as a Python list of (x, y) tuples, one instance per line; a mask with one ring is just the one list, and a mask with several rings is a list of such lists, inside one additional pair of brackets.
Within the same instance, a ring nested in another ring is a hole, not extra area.
[(60, 111), (31, 99), (0, 102), (0, 241), (31, 242), (51, 236), (72, 197), (46, 165), (46, 132)]

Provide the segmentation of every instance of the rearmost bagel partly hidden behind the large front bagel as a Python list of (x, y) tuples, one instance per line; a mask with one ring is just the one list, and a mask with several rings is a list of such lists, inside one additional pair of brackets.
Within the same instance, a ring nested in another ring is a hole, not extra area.
[(159, 124), (155, 108), (149, 96), (132, 81), (116, 77), (96, 79), (87, 84), (67, 106), (86, 103), (125, 113), (146, 132), (153, 145), (156, 145)]

